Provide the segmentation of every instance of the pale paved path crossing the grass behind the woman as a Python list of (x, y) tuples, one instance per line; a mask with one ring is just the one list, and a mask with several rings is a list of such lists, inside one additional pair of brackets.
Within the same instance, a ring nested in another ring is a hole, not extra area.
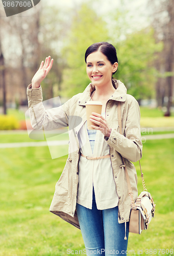
[[(144, 135), (141, 136), (142, 142), (146, 140), (159, 140), (174, 138), (174, 133), (170, 134), (156, 134), (156, 135)], [(68, 140), (53, 140), (48, 142), (50, 146), (66, 145)], [(0, 148), (12, 148), (12, 147), (28, 147), (28, 146), (47, 146), (47, 141), (41, 142), (15, 142), (15, 143), (0, 143)]]

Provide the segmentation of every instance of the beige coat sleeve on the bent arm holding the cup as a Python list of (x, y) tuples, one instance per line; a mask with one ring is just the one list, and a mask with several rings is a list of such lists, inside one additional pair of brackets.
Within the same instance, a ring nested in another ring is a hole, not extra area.
[(128, 104), (125, 132), (123, 135), (117, 129), (111, 127), (110, 137), (105, 137), (107, 143), (112, 146), (122, 157), (136, 162), (142, 157), (142, 142), (140, 132), (140, 109), (137, 100), (131, 97)]

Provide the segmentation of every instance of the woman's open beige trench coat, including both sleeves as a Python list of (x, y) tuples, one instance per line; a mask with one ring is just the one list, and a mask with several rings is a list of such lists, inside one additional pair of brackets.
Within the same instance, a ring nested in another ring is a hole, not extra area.
[[(142, 156), (142, 143), (140, 134), (140, 110), (136, 99), (127, 94), (127, 89), (122, 82), (115, 80), (116, 91), (109, 98), (106, 104), (106, 120), (111, 127), (109, 139), (105, 138), (110, 146), (110, 159), (113, 169), (113, 178), (116, 184), (118, 202), (118, 222), (129, 221), (131, 201), (128, 194), (128, 185), (125, 173), (122, 173), (120, 155), (125, 159), (128, 174), (133, 190), (134, 200), (138, 197), (137, 174), (132, 162), (138, 161)], [(53, 130), (58, 127), (59, 120), (62, 126), (70, 126), (70, 117), (79, 116), (82, 122), (74, 127), (76, 136), (86, 121), (86, 101), (90, 100), (91, 93), (95, 87), (90, 83), (83, 93), (74, 95), (59, 108), (48, 111), (44, 110), (42, 104), (42, 90), (31, 89), (31, 84), (27, 89), (29, 111), (33, 128)], [(122, 134), (119, 134), (117, 103), (121, 102)], [(63, 118), (64, 117), (64, 118)], [(76, 144), (76, 146), (74, 146)], [(69, 147), (73, 145), (73, 150), (69, 151), (68, 159), (63, 169), (62, 175), (56, 184), (56, 190), (50, 211), (61, 217), (68, 223), (80, 228), (76, 212), (80, 147), (78, 136), (70, 136)], [(90, 160), (89, 160), (90, 161)], [(93, 160), (92, 160), (93, 161)]]

